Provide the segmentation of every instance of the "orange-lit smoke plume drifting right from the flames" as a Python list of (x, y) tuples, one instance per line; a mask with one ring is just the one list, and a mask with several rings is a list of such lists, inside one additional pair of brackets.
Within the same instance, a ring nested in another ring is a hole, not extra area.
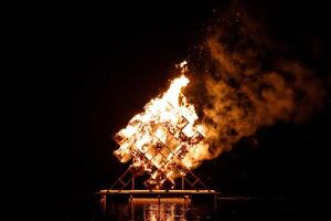
[(197, 59), (190, 61), (195, 73), (203, 73), (195, 94), (206, 128), (205, 158), (231, 150), (261, 127), (302, 123), (322, 106), (322, 81), (302, 62), (286, 57), (247, 13), (231, 14), (209, 30)]

